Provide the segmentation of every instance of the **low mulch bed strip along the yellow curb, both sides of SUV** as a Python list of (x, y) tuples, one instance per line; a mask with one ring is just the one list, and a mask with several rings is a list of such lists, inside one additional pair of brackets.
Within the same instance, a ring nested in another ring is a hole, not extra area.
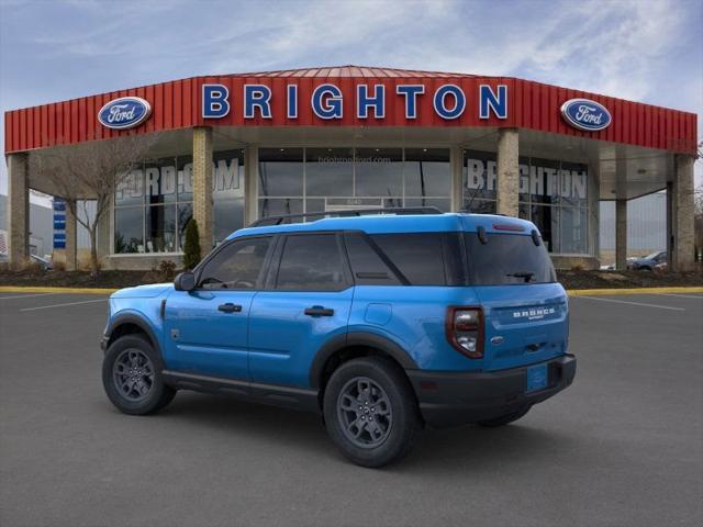
[[(557, 271), (566, 289), (623, 289), (655, 287), (703, 287), (703, 272), (650, 271)], [(93, 278), (88, 271), (9, 271), (0, 270), (0, 285), (62, 288), (127, 288), (142, 283), (168, 282), (158, 271), (101, 271)]]

